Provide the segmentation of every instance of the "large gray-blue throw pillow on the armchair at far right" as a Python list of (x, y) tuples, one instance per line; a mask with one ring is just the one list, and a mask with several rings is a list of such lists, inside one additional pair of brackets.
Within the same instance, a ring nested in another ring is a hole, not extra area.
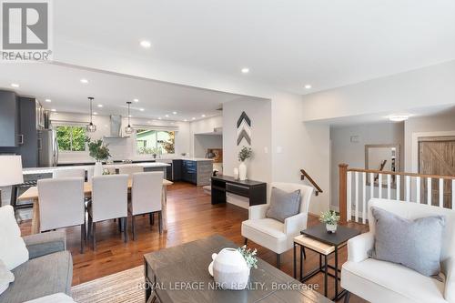
[(369, 257), (398, 263), (427, 277), (440, 273), (445, 217), (409, 220), (379, 207), (371, 207), (371, 212), (376, 220), (376, 231)]

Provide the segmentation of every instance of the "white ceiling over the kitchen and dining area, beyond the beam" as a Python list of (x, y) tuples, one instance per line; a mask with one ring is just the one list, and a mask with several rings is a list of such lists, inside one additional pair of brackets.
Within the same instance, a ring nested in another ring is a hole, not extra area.
[[(88, 83), (82, 84), (82, 78)], [(13, 88), (11, 83), (20, 86)], [(131, 105), (132, 116), (180, 121), (191, 121), (193, 117), (200, 119), (202, 115), (220, 115), (217, 108), (222, 103), (245, 97), (49, 64), (3, 65), (0, 89), (14, 89), (21, 96), (35, 96), (46, 109), (54, 108), (57, 112), (87, 113), (87, 96), (93, 96), (94, 111), (98, 115), (126, 116), (126, 101), (137, 98), (139, 102)], [(45, 99), (50, 99), (51, 103)]]

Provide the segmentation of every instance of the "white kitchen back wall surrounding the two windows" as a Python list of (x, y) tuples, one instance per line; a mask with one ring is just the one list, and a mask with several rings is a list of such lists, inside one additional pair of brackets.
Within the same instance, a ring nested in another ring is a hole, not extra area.
[[(53, 125), (63, 124), (80, 124), (86, 125), (88, 118), (87, 115), (73, 114), (73, 113), (52, 113), (51, 121)], [(150, 122), (150, 123), (149, 123)], [(96, 132), (87, 133), (93, 139), (102, 138), (103, 136), (110, 135), (110, 117), (109, 116), (94, 116), (93, 123), (96, 125)], [(148, 119), (131, 118), (132, 126), (168, 126), (176, 131), (176, 154), (166, 157), (180, 157), (181, 153), (189, 153), (190, 139), (189, 139), (189, 123), (187, 122), (172, 122), (170, 121), (150, 121)], [(122, 121), (122, 127), (127, 124), (126, 119)], [(109, 146), (109, 152), (113, 160), (132, 159), (132, 160), (146, 160), (152, 159), (151, 155), (137, 155), (135, 135), (128, 138), (105, 138), (106, 144)], [(192, 155), (189, 155), (192, 156)], [(59, 163), (68, 162), (92, 162), (94, 159), (86, 152), (60, 152)]]

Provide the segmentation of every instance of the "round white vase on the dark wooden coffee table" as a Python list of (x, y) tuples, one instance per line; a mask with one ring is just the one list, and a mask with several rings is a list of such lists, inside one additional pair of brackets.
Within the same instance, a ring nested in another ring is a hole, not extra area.
[(223, 248), (212, 255), (213, 262), (208, 272), (223, 289), (242, 290), (247, 288), (250, 268), (236, 248)]

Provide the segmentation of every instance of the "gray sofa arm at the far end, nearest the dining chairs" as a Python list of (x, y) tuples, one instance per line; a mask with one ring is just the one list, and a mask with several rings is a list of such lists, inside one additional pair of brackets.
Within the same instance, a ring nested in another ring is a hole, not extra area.
[(51, 231), (23, 237), (29, 258), (38, 258), (66, 250), (66, 233), (63, 230)]

